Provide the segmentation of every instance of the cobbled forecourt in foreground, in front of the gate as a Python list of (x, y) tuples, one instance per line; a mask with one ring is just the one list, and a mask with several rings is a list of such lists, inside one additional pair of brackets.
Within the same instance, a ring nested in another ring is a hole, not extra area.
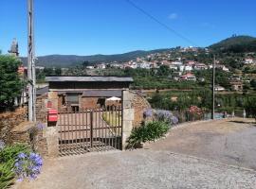
[(48, 160), (32, 188), (256, 188), (256, 172), (167, 151), (139, 149)]

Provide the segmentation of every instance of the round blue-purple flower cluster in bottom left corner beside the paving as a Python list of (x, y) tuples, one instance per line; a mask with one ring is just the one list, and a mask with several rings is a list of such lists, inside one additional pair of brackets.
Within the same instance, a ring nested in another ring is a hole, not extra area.
[(18, 180), (24, 180), (27, 177), (34, 180), (40, 174), (42, 165), (43, 159), (39, 154), (21, 152), (14, 164), (14, 172)]

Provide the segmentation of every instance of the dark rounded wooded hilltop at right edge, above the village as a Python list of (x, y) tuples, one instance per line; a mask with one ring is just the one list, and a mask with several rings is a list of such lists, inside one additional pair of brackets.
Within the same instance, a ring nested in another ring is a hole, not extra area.
[(233, 53), (256, 52), (256, 38), (250, 36), (234, 36), (210, 45), (210, 49)]

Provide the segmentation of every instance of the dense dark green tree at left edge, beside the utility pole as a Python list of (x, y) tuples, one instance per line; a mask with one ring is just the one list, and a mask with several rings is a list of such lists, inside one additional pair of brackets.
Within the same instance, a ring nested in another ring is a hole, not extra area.
[(14, 98), (21, 95), (23, 82), (18, 68), (21, 61), (12, 56), (0, 56), (0, 111), (13, 108)]

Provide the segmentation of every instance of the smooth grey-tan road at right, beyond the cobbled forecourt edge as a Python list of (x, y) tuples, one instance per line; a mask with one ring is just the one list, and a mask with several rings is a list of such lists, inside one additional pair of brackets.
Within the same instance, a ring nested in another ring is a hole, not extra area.
[(256, 170), (256, 127), (253, 119), (186, 124), (147, 148), (173, 151)]

